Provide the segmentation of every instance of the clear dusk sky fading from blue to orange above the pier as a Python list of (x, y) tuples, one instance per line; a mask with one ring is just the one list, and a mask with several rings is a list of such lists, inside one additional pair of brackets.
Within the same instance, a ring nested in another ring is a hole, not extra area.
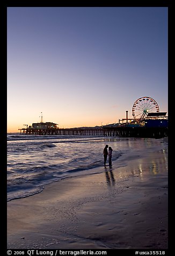
[(168, 112), (167, 12), (8, 7), (8, 132), (41, 115), (60, 128), (118, 123), (144, 96)]

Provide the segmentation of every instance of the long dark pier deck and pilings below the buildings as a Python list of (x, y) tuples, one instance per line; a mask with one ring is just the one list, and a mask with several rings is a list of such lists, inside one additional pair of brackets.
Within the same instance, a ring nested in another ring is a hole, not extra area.
[(167, 127), (108, 127), (108, 128), (70, 128), (70, 129), (19, 129), (25, 135), (57, 136), (101, 136), (128, 138), (163, 138), (168, 136)]

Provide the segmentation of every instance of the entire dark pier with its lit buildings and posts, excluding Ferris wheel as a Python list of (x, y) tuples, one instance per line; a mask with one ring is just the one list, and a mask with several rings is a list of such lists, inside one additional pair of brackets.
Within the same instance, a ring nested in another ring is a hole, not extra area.
[[(120, 123), (122, 121), (122, 124)], [(152, 112), (147, 115), (144, 122), (128, 118), (119, 119), (118, 124), (101, 125), (95, 127), (59, 128), (52, 122), (33, 123), (26, 128), (18, 129), (25, 135), (57, 135), (57, 136), (101, 136), (101, 137), (128, 137), (128, 138), (163, 138), (168, 136), (168, 120), (166, 112)]]

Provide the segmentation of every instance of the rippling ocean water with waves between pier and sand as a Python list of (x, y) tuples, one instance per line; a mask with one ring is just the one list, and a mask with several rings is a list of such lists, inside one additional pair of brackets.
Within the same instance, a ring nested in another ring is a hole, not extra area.
[[(104, 172), (103, 149), (106, 144), (113, 149), (112, 163), (115, 168), (127, 166), (128, 158), (143, 157), (155, 151), (164, 152), (164, 160), (167, 161), (167, 138), (8, 133), (7, 200), (40, 193), (46, 184), (68, 177)], [(154, 164), (150, 172), (154, 171)]]

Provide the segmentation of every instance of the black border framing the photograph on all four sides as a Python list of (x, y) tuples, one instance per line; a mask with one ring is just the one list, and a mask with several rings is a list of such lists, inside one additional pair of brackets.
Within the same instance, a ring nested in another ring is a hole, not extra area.
[[(2, 3), (3, 2), (3, 3)], [(2, 253), (2, 255), (7, 255), (6, 254), (6, 237), (7, 237), (7, 229), (6, 229), (6, 225), (7, 225), (7, 201), (6, 201), (6, 132), (7, 132), (7, 112), (6, 112), (6, 108), (5, 106), (7, 106), (6, 103), (6, 99), (7, 99), (7, 91), (5, 87), (5, 84), (7, 84), (7, 9), (8, 7), (167, 7), (168, 8), (168, 22), (169, 22), (169, 27), (168, 27), (168, 32), (169, 32), (169, 60), (168, 60), (168, 65), (169, 65), (169, 249), (168, 250), (164, 250), (166, 251), (165, 255), (168, 255), (168, 251), (171, 251), (171, 249), (173, 248), (172, 246), (172, 236), (171, 234), (173, 234), (173, 230), (172, 230), (172, 225), (171, 225), (171, 219), (173, 219), (172, 216), (172, 211), (171, 211), (171, 202), (170, 202), (170, 197), (171, 197), (171, 188), (173, 187), (173, 179), (172, 179), (172, 172), (174, 172), (172, 166), (171, 166), (171, 155), (173, 152), (171, 152), (171, 149), (173, 149), (173, 138), (171, 137), (173, 135), (173, 127), (172, 127), (172, 121), (173, 121), (173, 108), (172, 108), (172, 102), (173, 102), (173, 92), (171, 93), (171, 87), (172, 87), (172, 38), (173, 38), (173, 22), (172, 22), (172, 17), (173, 17), (173, 8), (172, 8), (172, 1), (156, 1), (156, 0), (149, 0), (149, 1), (117, 1), (115, 4), (113, 2), (109, 3), (107, 2), (107, 5), (99, 5), (97, 3), (92, 2), (92, 4), (90, 4), (90, 2), (83, 2), (84, 6), (79, 6), (78, 3), (74, 3), (74, 5), (71, 5), (68, 2), (65, 4), (63, 2), (59, 2), (59, 1), (48, 1), (46, 2), (42, 2), (41, 1), (2, 1), (1, 2), (1, 24), (2, 24), (2, 41), (3, 44), (1, 44), (3, 46), (3, 65), (2, 65), (2, 74), (3, 74), (3, 83), (2, 83), (2, 109), (3, 111), (1, 112), (1, 125), (0, 125), (0, 129), (1, 129), (1, 146), (4, 148), (3, 151), (1, 151), (1, 158), (2, 161), (1, 163), (3, 163), (1, 166), (1, 177), (0, 177), (0, 181), (1, 181), (1, 209), (3, 209), (3, 219), (2, 219), (2, 227), (1, 228), (1, 248), (3, 249), (3, 251), (5, 253)], [(5, 3), (4, 3), (5, 2)], [(172, 202), (173, 203), (173, 202)], [(76, 250), (78, 251), (78, 250)], [(100, 250), (99, 250), (100, 251)], [(135, 255), (135, 251), (136, 250), (107, 250), (107, 255), (108, 253), (117, 253), (118, 255), (122, 255), (122, 253), (124, 255)], [(146, 250), (138, 250), (138, 251), (146, 251)], [(151, 250), (148, 250), (151, 251)], [(152, 251), (158, 251), (158, 250), (152, 250)], [(162, 250), (163, 251), (163, 250)]]

